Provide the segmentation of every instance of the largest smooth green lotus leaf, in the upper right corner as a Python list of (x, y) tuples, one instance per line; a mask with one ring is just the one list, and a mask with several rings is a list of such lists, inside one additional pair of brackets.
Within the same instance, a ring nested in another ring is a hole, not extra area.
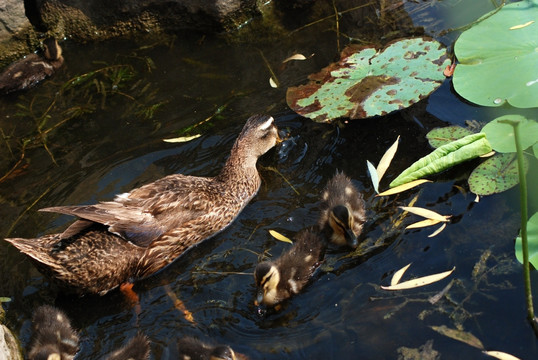
[(454, 89), (483, 106), (538, 107), (538, 2), (508, 4), (483, 19), (456, 41)]

